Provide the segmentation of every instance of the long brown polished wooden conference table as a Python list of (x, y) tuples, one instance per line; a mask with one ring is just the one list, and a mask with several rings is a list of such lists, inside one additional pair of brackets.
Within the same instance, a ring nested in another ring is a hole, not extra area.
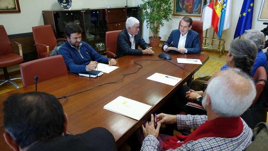
[[(67, 74), (55, 77), (37, 84), (37, 90), (47, 92), (56, 97), (68, 95), (73, 92), (79, 92), (91, 88), (94, 85), (103, 84), (110, 81), (116, 81), (122, 74), (134, 72), (140, 66), (135, 64), (136, 59), (160, 59), (158, 55), (162, 53), (160, 47), (153, 48), (155, 54), (143, 56), (124, 56), (117, 60), (119, 68), (109, 74), (103, 74), (97, 78), (79, 77), (77, 74)], [(200, 59), (205, 63), (208, 55), (204, 54), (179, 54), (178, 52), (168, 52), (171, 55), (172, 63), (196, 72), (202, 65), (179, 64), (176, 58)], [(106, 84), (93, 88), (80, 94), (69, 97), (68, 102), (64, 103), (63, 109), (67, 113), (69, 123), (67, 131), (71, 134), (83, 133), (91, 128), (104, 127), (114, 136), (117, 146), (120, 146), (141, 124), (143, 124), (150, 114), (156, 112), (161, 105), (173, 95), (178, 88), (190, 77), (189, 70), (181, 69), (165, 60), (149, 61), (139, 60), (141, 68), (137, 73), (127, 75), (123, 80), (113, 84)], [(154, 73), (167, 74), (174, 77), (180, 77), (182, 80), (175, 86), (170, 86), (146, 78)], [(35, 85), (23, 87), (14, 91), (6, 92), (0, 95), (0, 126), (3, 125), (3, 101), (12, 93), (23, 93), (35, 91)], [(152, 106), (152, 108), (139, 121), (120, 114), (103, 109), (103, 106), (118, 96), (124, 96), (139, 102)], [(65, 99), (60, 99), (63, 102)], [(11, 150), (3, 138), (4, 128), (0, 128), (0, 150)]]

